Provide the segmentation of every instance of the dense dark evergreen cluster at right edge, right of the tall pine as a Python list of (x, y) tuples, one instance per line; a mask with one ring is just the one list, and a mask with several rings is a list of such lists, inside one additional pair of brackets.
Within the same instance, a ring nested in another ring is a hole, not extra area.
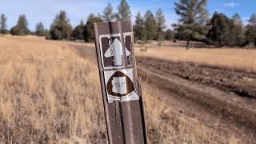
[(210, 20), (207, 42), (214, 46), (256, 46), (256, 15), (250, 17), (244, 26), (239, 14), (228, 18), (225, 14), (215, 13)]

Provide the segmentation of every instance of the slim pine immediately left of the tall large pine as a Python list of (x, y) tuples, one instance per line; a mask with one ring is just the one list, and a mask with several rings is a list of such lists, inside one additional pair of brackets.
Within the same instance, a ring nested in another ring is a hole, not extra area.
[(159, 45), (161, 45), (162, 41), (164, 40), (164, 29), (166, 28), (166, 18), (164, 14), (162, 13), (162, 9), (158, 9), (157, 13), (155, 14), (155, 19), (158, 25), (158, 34), (157, 39), (159, 42)]

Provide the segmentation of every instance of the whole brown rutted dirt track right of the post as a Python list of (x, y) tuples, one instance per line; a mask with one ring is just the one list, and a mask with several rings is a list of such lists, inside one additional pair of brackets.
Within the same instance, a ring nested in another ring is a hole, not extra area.
[(256, 74), (155, 58), (137, 62), (139, 76), (182, 114), (224, 134), (256, 138)]

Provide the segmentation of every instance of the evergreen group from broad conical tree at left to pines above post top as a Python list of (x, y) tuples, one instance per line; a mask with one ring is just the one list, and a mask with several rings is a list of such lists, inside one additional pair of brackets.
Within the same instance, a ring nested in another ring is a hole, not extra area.
[(87, 22), (80, 22), (78, 26), (72, 29), (70, 20), (66, 16), (65, 11), (61, 11), (56, 15), (54, 22), (50, 26), (49, 33), (46, 35), (48, 39), (72, 39), (84, 40), (85, 42), (94, 41), (94, 22), (111, 22), (116, 20), (130, 20), (130, 6), (126, 0), (122, 0), (118, 6), (118, 12), (114, 13), (113, 6), (110, 3), (106, 6), (103, 14), (90, 14)]

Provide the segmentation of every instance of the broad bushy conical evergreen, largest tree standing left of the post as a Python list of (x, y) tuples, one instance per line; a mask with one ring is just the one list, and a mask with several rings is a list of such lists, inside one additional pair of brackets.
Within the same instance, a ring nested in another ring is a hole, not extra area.
[(50, 39), (70, 39), (72, 33), (72, 26), (70, 20), (67, 18), (66, 12), (61, 10), (54, 18), (50, 26)]

